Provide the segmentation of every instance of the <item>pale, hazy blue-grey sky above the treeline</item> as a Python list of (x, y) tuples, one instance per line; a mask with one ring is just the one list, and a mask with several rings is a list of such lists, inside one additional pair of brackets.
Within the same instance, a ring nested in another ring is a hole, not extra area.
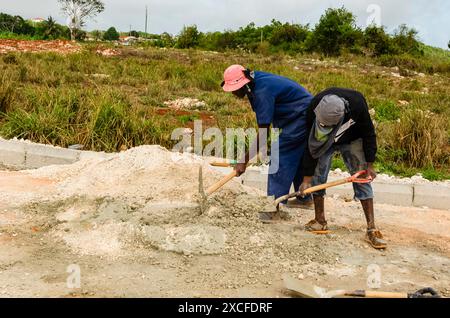
[[(448, 0), (104, 0), (106, 10), (87, 29), (107, 29), (115, 26), (121, 31), (144, 30), (145, 6), (149, 7), (149, 32), (178, 33), (183, 25), (197, 24), (202, 31), (236, 29), (249, 22), (258, 25), (280, 21), (314, 25), (328, 7), (344, 5), (365, 26), (374, 11), (380, 8), (381, 24), (392, 32), (406, 23), (419, 31), (427, 44), (447, 48), (450, 40), (450, 1)], [(57, 0), (0, 0), (0, 11), (26, 18), (49, 15), (65, 22)]]

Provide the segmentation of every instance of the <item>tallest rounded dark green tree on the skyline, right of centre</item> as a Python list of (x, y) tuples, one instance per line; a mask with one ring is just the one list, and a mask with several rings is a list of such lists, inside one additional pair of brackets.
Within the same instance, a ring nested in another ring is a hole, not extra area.
[(355, 15), (344, 7), (327, 9), (314, 29), (309, 43), (311, 49), (326, 55), (338, 55), (341, 49), (353, 47), (362, 37), (355, 20)]

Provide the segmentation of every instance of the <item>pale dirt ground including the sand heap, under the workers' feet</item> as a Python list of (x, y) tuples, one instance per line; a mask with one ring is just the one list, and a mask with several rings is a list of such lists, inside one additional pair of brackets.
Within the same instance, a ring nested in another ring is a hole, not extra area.
[[(236, 181), (200, 214), (197, 171), (205, 164), (186, 159), (139, 147), (0, 171), (0, 296), (290, 297), (285, 274), (326, 290), (369, 289), (378, 277), (379, 290), (433, 287), (450, 296), (449, 211), (377, 204), (389, 247), (376, 251), (364, 241), (357, 202), (327, 198), (326, 236), (303, 230), (310, 210), (261, 224), (268, 201)], [(208, 185), (220, 175), (206, 166)], [(74, 265), (80, 288), (68, 285)]]

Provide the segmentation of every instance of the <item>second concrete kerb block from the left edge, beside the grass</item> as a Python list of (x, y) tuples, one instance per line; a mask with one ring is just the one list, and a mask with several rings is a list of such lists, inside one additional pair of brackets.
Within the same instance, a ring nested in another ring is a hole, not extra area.
[(26, 144), (25, 164), (28, 169), (49, 165), (71, 164), (79, 160), (80, 152), (80, 150)]

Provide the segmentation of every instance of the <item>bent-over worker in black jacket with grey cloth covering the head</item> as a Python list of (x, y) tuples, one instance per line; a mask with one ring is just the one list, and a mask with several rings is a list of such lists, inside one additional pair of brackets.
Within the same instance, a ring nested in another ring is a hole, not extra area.
[[(331, 160), (340, 152), (351, 174), (367, 170), (376, 178), (373, 167), (377, 153), (375, 128), (364, 96), (354, 90), (329, 88), (313, 98), (308, 109), (310, 134), (303, 157), (303, 183), (300, 191), (327, 182)], [(386, 248), (381, 232), (375, 227), (373, 191), (370, 183), (353, 183), (355, 198), (361, 201), (367, 220), (367, 241), (377, 249)], [(315, 219), (306, 229), (327, 233), (324, 210), (325, 191), (315, 192)]]

